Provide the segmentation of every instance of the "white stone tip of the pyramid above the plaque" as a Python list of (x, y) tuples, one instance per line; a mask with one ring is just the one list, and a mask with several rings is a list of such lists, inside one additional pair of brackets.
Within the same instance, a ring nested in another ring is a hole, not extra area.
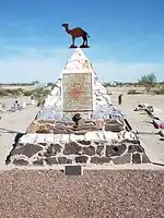
[(91, 61), (85, 57), (81, 48), (75, 49), (72, 57), (61, 71), (60, 78), (63, 73), (93, 73), (94, 77), (96, 77)]

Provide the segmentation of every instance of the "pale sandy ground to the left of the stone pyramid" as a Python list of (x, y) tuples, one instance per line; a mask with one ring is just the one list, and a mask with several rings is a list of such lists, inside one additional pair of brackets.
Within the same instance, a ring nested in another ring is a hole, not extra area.
[[(27, 98), (20, 98), (20, 104), (26, 100)], [(1, 102), (5, 102), (8, 107), (10, 107), (14, 99), (13, 98), (4, 98), (0, 100)], [(19, 132), (25, 132), (32, 120), (35, 118), (38, 108), (35, 106), (27, 106), (22, 111), (16, 112), (4, 112), (1, 113), (2, 119), (0, 120), (0, 169), (3, 169), (4, 160), (7, 155), (9, 155), (13, 140)]]

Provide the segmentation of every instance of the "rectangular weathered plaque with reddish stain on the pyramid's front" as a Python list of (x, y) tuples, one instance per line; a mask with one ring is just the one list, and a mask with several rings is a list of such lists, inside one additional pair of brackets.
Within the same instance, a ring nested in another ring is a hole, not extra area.
[(91, 73), (62, 75), (62, 111), (92, 111), (93, 84)]

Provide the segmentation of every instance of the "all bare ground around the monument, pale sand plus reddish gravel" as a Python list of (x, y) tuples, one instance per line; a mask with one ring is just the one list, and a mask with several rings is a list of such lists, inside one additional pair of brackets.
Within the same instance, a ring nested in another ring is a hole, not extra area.
[[(127, 95), (127, 87), (110, 87), (112, 100), (134, 130), (154, 131), (150, 118), (133, 111), (149, 102), (164, 109), (164, 95)], [(117, 97), (122, 93), (122, 105)], [(22, 100), (22, 98), (20, 98)], [(11, 104), (13, 99), (7, 98)], [(4, 170), (4, 160), (16, 132), (25, 132), (39, 108), (2, 113), (0, 120), (0, 217), (35, 218), (162, 218), (164, 217), (164, 167), (136, 170), (84, 170), (83, 177), (66, 177), (54, 170)], [(139, 135), (155, 161), (164, 162), (160, 136)], [(4, 170), (4, 171), (3, 171)]]

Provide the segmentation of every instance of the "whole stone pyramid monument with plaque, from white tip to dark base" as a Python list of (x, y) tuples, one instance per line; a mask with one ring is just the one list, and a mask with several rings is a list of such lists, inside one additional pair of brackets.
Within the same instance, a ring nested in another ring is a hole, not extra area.
[(33, 167), (141, 162), (150, 162), (144, 149), (80, 48), (7, 158), (8, 165)]

